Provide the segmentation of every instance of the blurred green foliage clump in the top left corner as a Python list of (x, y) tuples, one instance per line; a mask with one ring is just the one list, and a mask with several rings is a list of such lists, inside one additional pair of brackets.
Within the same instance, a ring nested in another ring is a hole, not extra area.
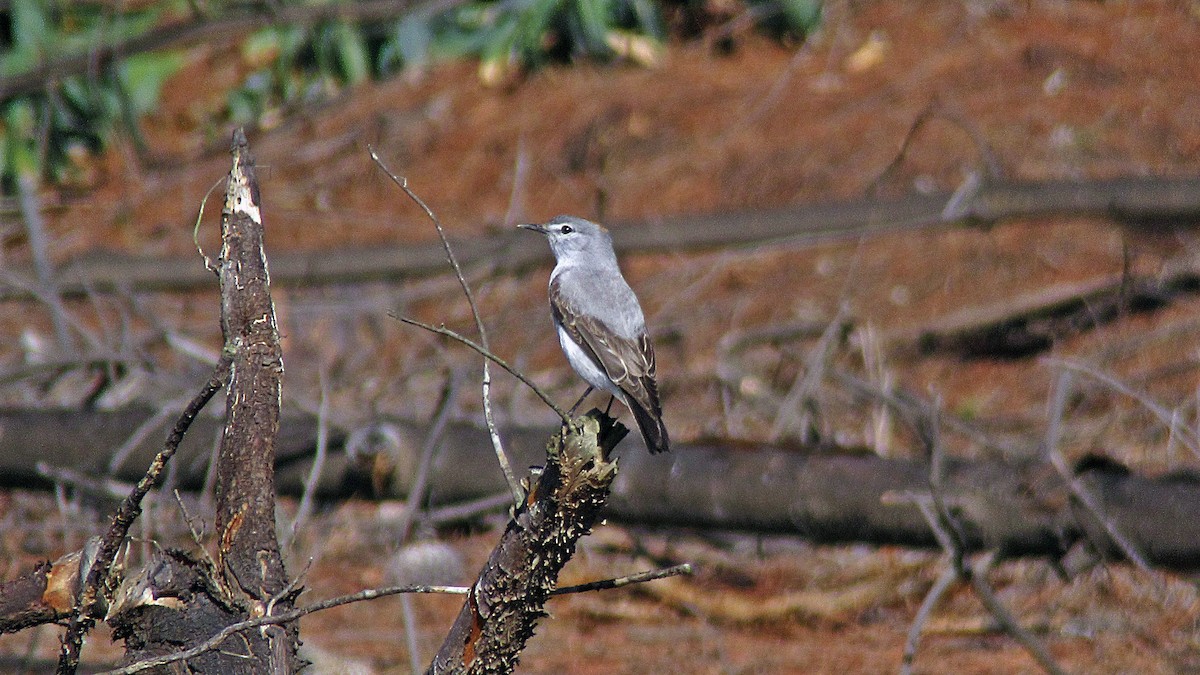
[[(0, 10), (0, 77), (25, 76), (52, 59), (139, 35), (158, 22), (160, 11), (12, 0)], [(104, 148), (119, 125), (157, 106), (163, 82), (181, 65), (179, 54), (138, 54), (0, 102), (2, 191), (11, 193), (20, 178), (70, 180), (78, 157)]]

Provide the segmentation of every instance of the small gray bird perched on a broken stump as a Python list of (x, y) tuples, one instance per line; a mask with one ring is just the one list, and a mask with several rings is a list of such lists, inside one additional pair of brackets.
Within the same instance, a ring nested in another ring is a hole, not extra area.
[(654, 382), (654, 346), (608, 231), (575, 216), (517, 227), (545, 234), (554, 252), (550, 311), (568, 363), (589, 384), (583, 396), (593, 388), (612, 394), (634, 413), (652, 453), (671, 449)]

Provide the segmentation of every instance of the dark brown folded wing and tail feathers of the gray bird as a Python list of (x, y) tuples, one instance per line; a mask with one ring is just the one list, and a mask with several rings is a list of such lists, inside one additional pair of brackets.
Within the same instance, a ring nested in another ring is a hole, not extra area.
[(662, 424), (650, 336), (643, 331), (634, 340), (622, 338), (595, 317), (578, 313), (559, 292), (557, 282), (550, 285), (550, 309), (575, 344), (599, 363), (625, 394), (646, 447), (652, 453), (668, 450), (671, 441)]

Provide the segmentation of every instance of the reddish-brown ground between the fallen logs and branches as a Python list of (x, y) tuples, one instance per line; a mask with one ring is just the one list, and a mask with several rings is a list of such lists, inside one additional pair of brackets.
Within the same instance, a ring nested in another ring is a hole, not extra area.
[[(832, 5), (823, 34), (799, 49), (739, 35), (728, 54), (702, 42), (672, 44), (658, 68), (551, 68), (503, 89), (481, 85), (473, 65), (445, 65), (415, 83), (365, 86), (289, 117), (277, 129), (251, 133), (260, 163), (269, 167), (263, 183), (269, 246), (317, 250), (433, 238), (419, 211), (372, 166), (367, 143), (410, 179), (454, 237), (558, 213), (596, 216), (601, 189), (610, 221), (859, 197), (932, 101), (973, 125), (1009, 177), (1200, 171), (1200, 12), (1194, 2)], [(864, 47), (872, 42), (874, 48)], [(230, 53), (193, 50), (191, 65), (167, 91), (167, 112), (148, 123), (163, 165), (139, 167), (118, 150), (94, 167), (90, 191), (48, 197), (60, 204), (50, 222), (58, 258), (97, 249), (143, 255), (192, 249), (197, 204), (227, 171), (226, 156), (211, 149), (226, 143), (228, 130), (210, 120), (239, 68)], [(884, 191), (952, 189), (979, 161), (971, 135), (943, 118), (914, 138)], [(211, 243), (215, 220), (208, 222)], [(1193, 239), (1190, 231), (1146, 237), (1105, 221), (1055, 219), (862, 244), (643, 255), (624, 262), (659, 336), (673, 436), (757, 441), (769, 437), (775, 419), (775, 399), (757, 394), (791, 387), (805, 345), (749, 354), (733, 376), (734, 395), (722, 405), (715, 346), (733, 330), (829, 321), (846, 304), (860, 330), (838, 358), (853, 364), (863, 352), (892, 345), (890, 336), (956, 310), (1118, 273), (1127, 249), (1134, 271), (1153, 273), (1164, 259), (1194, 250)], [(7, 249), (13, 257), (25, 255), (19, 241)], [(568, 400), (577, 386), (547, 328), (545, 274), (479, 274), (474, 281), (496, 350)], [(396, 309), (466, 328), (467, 307), (457, 293), (449, 277), (403, 287), (278, 289), (290, 395), (316, 400), (324, 370), (344, 424), (372, 411), (428, 414), (443, 368), (476, 366), (468, 354), (380, 317)], [(217, 346), (212, 295), (146, 303), (169, 325)], [(1064, 340), (1054, 356), (1088, 359), (1178, 407), (1192, 423), (1198, 310), (1200, 299), (1184, 297)], [(48, 331), (44, 316), (29, 311), (0, 318), (13, 339), (26, 325)], [(902, 354), (884, 351), (882, 368), (896, 383), (923, 395), (936, 392), (948, 410), (1014, 434), (1025, 447), (1042, 434), (1054, 372), (1045, 362)], [(506, 418), (548, 419), (508, 381), (498, 388)], [(478, 418), (476, 399), (473, 390), (463, 393), (463, 417)], [(829, 430), (839, 440), (914, 452), (902, 429), (875, 434), (870, 410), (850, 410), (836, 399), (830, 396), (832, 410), (845, 414)], [(1144, 471), (1196, 462), (1136, 404), (1103, 389), (1086, 389), (1072, 414), (1068, 454), (1103, 449)], [(979, 452), (953, 442), (956, 452)], [(14, 503), (6, 502), (10, 519)], [(372, 504), (347, 503), (312, 524), (300, 550), (319, 554), (307, 579), (313, 596), (385, 581), (383, 567), (395, 546), (364, 533), (379, 518)], [(568, 568), (565, 584), (652, 566), (631, 552), (628, 534), (617, 526), (606, 530), (598, 537), (612, 546), (589, 546)], [(664, 560), (700, 562), (698, 579), (683, 585), (698, 596), (665, 585), (676, 590), (647, 586), (554, 601), (553, 616), (524, 655), (524, 671), (895, 671), (916, 608), (940, 569), (932, 554), (792, 540), (767, 542), (760, 551), (751, 538), (637, 534)], [(464, 569), (478, 566), (494, 536), (451, 539), (466, 556)], [(31, 550), (36, 546), (25, 539), (13, 534), (5, 551), (53, 556), (71, 548), (61, 537), (42, 537), (47, 548)], [(8, 578), (14, 569), (5, 572)], [(846, 587), (872, 580), (874, 590), (857, 602), (839, 599)], [(1073, 671), (1195, 671), (1196, 593), (1181, 579), (1162, 580), (1158, 586), (1117, 566), (1064, 583), (1036, 561), (1006, 565), (994, 575), (1006, 602)], [(782, 616), (754, 611), (802, 591), (814, 592), (824, 610), (805, 604), (810, 609)], [(751, 619), (736, 620), (734, 610), (714, 603), (751, 608)], [(457, 602), (418, 598), (414, 607), (427, 658)], [(385, 599), (312, 616), (302, 631), (311, 645), (402, 673), (400, 617), (398, 601)], [(931, 631), (918, 671), (1037, 670), (1020, 647), (989, 628), (986, 614), (965, 590), (936, 613)], [(44, 638), (35, 651), (48, 653), (53, 643)], [(116, 653), (106, 643), (102, 635), (91, 640), (92, 658)], [(28, 635), (0, 640), (10, 655), (28, 645)]]

